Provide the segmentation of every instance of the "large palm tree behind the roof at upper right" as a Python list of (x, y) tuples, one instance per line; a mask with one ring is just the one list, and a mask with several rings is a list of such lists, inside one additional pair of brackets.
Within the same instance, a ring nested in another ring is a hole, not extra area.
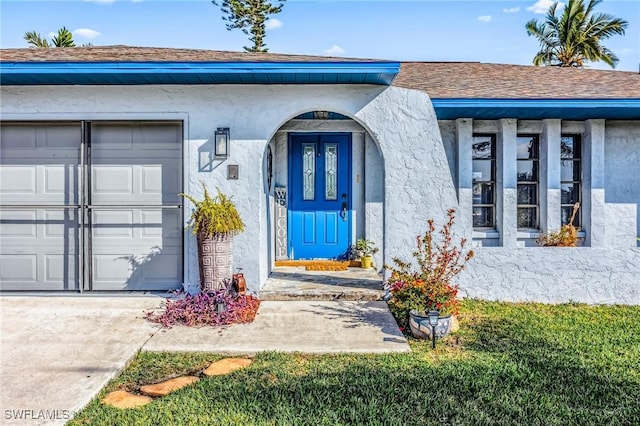
[(558, 67), (582, 67), (585, 62), (602, 61), (615, 68), (618, 57), (601, 42), (615, 34), (624, 35), (629, 23), (605, 13), (594, 14), (594, 7), (602, 0), (569, 0), (556, 16), (558, 3), (549, 8), (544, 22), (527, 22), (527, 34), (540, 41), (540, 51), (533, 64)]

